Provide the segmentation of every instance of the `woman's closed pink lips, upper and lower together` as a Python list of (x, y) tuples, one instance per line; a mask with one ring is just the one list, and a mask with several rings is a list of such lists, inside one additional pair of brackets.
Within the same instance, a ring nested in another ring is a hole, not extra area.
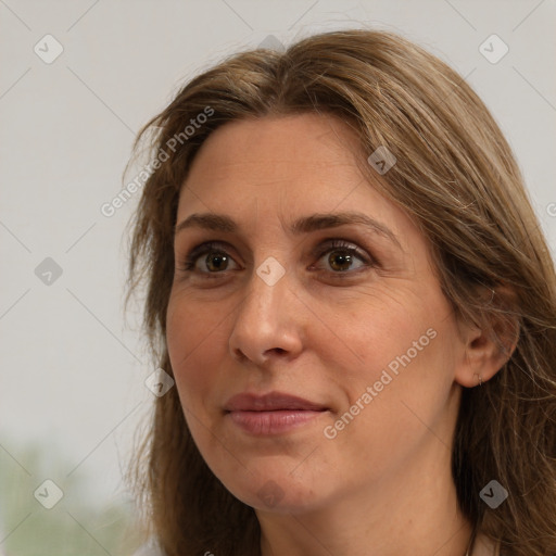
[(271, 392), (238, 394), (224, 407), (231, 421), (252, 434), (279, 434), (315, 419), (327, 407), (302, 397)]

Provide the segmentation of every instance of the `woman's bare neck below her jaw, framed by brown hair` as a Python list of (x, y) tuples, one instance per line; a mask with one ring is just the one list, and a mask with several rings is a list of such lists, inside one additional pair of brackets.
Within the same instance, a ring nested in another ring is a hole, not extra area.
[(287, 514), (257, 510), (262, 556), (465, 556), (471, 526), (457, 509), (451, 454), (430, 442), (427, 457), (366, 490)]

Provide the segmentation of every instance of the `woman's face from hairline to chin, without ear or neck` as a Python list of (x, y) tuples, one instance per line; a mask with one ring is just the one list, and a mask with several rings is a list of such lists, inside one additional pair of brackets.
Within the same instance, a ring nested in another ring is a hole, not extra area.
[(181, 191), (176, 387), (208, 467), (261, 511), (450, 466), (465, 345), (424, 236), (357, 156), (332, 116), (240, 121), (206, 140)]

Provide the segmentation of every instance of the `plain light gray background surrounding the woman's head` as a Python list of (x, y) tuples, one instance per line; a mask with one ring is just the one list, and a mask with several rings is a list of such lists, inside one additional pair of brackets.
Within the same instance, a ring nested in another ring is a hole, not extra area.
[[(551, 0), (0, 0), (0, 467), (28, 500), (16, 516), (0, 498), (0, 552), (46, 519), (33, 497), (45, 479), (64, 492), (50, 511), (89, 535), (79, 504), (128, 503), (122, 469), (154, 400), (137, 311), (123, 314), (122, 238), (138, 194), (111, 218), (100, 206), (129, 180), (136, 131), (181, 84), (269, 35), (401, 33), (491, 109), (554, 253), (555, 23)], [(47, 34), (64, 49), (50, 64), (34, 51)], [(509, 48), (496, 64), (479, 51), (492, 34)], [(62, 268), (50, 285), (35, 273), (46, 257)]]

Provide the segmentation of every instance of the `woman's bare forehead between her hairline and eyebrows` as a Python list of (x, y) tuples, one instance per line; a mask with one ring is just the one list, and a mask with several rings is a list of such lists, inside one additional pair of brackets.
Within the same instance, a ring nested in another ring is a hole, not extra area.
[(178, 222), (193, 213), (227, 214), (255, 232), (255, 222), (261, 231), (314, 213), (356, 210), (396, 235), (415, 235), (408, 216), (362, 173), (362, 161), (358, 138), (334, 116), (236, 121), (198, 152), (181, 189)]

